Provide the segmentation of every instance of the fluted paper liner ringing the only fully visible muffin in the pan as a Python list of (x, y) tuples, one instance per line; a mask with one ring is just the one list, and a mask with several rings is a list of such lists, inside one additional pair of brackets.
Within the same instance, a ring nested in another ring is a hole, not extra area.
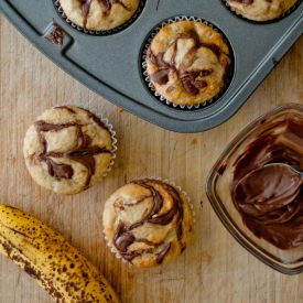
[[(169, 24), (172, 24), (172, 23), (178, 22), (178, 21), (197, 21), (197, 22), (208, 25), (209, 28), (212, 28), (213, 30), (215, 30), (216, 32), (218, 32), (223, 35), (224, 42), (227, 44), (229, 52), (230, 52), (231, 64), (230, 64), (229, 75), (227, 77), (225, 86), (221, 88), (219, 94), (217, 94), (215, 97), (213, 97), (209, 100), (197, 104), (197, 105), (188, 106), (188, 105), (174, 104), (174, 102), (170, 101), (169, 99), (164, 98), (162, 95), (160, 95), (155, 90), (155, 88), (153, 87), (153, 84), (151, 83), (149, 75), (148, 75), (147, 52), (151, 45), (153, 37), (163, 26), (166, 26)], [(213, 105), (218, 99), (220, 99), (220, 97), (226, 93), (226, 90), (228, 89), (228, 87), (231, 83), (231, 79), (234, 76), (234, 69), (235, 69), (234, 51), (232, 51), (232, 47), (231, 47), (227, 36), (224, 34), (224, 32), (220, 29), (218, 29), (216, 25), (214, 25), (213, 23), (210, 23), (202, 18), (188, 17), (188, 15), (177, 15), (174, 18), (166, 19), (166, 20), (162, 21), (160, 24), (158, 24), (155, 28), (153, 28), (151, 30), (151, 32), (148, 34), (148, 36), (145, 37), (143, 47), (141, 48), (140, 62), (141, 62), (140, 66), (141, 66), (141, 74), (142, 74), (143, 83), (144, 83), (145, 87), (148, 88), (148, 90), (152, 94), (152, 96), (155, 97), (162, 104), (164, 104), (171, 108), (180, 109), (180, 110), (196, 110), (196, 109), (206, 108), (206, 107)]]

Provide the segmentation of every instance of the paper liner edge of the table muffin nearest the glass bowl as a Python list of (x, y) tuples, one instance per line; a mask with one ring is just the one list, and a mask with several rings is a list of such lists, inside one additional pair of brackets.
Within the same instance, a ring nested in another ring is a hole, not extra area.
[[(193, 205), (192, 199), (190, 198), (188, 194), (187, 194), (185, 191), (183, 191), (183, 190), (181, 188), (181, 186), (175, 185), (174, 182), (172, 182), (172, 181), (170, 181), (170, 180), (167, 180), (167, 178), (164, 178), (164, 180), (163, 180), (163, 178), (161, 178), (161, 177), (155, 177), (155, 176), (147, 176), (147, 177), (134, 178), (134, 180), (128, 182), (127, 184), (129, 184), (129, 183), (131, 183), (131, 182), (133, 182), (133, 181), (147, 180), (147, 178), (148, 178), (148, 180), (155, 180), (155, 181), (161, 181), (161, 182), (167, 183), (169, 185), (171, 185), (171, 186), (173, 186), (174, 188), (176, 188), (176, 190), (185, 197), (185, 199), (188, 202), (190, 207), (191, 207), (191, 210), (192, 210), (192, 218), (193, 218), (192, 230), (194, 230), (194, 226), (195, 226), (195, 223), (196, 223), (196, 213), (195, 213), (195, 209), (194, 209), (194, 205)], [(117, 251), (117, 249), (116, 249), (113, 246), (110, 246), (110, 245), (109, 245), (109, 239), (108, 239), (108, 237), (106, 236), (105, 229), (102, 230), (102, 232), (104, 232), (104, 237), (105, 237), (106, 245), (108, 246), (109, 250), (115, 255), (115, 257), (116, 257), (117, 259), (121, 259), (123, 263), (126, 263), (126, 264), (128, 264), (128, 266), (130, 266), (130, 267), (133, 267), (133, 264), (132, 264), (131, 262), (129, 262), (129, 261), (127, 261), (125, 258), (122, 258), (122, 256)], [(193, 231), (192, 231), (192, 232), (193, 232)]]

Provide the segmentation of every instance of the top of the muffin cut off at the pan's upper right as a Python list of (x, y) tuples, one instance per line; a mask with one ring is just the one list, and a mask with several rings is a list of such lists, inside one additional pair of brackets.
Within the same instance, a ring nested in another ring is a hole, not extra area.
[(226, 0), (238, 14), (253, 21), (269, 21), (289, 11), (297, 0)]

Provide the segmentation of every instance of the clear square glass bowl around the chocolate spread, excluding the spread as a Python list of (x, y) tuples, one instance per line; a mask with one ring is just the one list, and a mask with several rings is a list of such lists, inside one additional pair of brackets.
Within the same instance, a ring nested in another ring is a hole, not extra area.
[[(206, 194), (224, 226), (241, 246), (271, 268), (285, 274), (295, 274), (303, 272), (303, 246), (283, 250), (256, 237), (244, 224), (231, 198), (235, 161), (264, 129), (269, 129), (272, 123), (288, 117), (302, 119), (303, 122), (303, 106), (295, 104), (281, 106), (246, 127), (229, 143), (209, 172), (206, 181)], [(274, 132), (281, 133), (283, 129), (274, 130)]]

